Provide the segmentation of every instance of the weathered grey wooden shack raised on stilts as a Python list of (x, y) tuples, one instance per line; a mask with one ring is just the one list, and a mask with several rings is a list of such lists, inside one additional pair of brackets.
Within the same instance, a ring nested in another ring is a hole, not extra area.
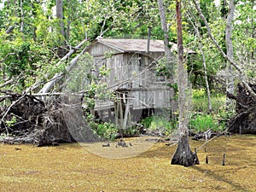
[[(172, 44), (172, 50), (175, 49), (177, 44)], [(98, 101), (96, 111), (122, 108), (121, 114), (125, 116), (132, 110), (144, 113), (145, 110), (170, 107), (167, 79), (157, 76), (155, 70), (156, 62), (165, 55), (162, 40), (100, 38), (90, 44), (87, 52), (93, 56), (96, 76), (101, 67), (110, 69), (108, 78), (100, 81), (115, 91), (122, 105)]]

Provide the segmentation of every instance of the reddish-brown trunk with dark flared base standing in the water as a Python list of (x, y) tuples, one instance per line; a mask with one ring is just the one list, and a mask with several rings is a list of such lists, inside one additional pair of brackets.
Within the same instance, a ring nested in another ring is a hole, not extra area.
[(178, 88), (178, 129), (180, 140), (175, 154), (172, 156), (171, 164), (181, 166), (193, 166), (199, 164), (196, 153), (193, 154), (189, 148), (188, 131), (188, 74), (183, 66), (183, 37), (182, 37), (182, 18), (181, 18), (181, 0), (176, 0), (177, 15), (177, 88)]

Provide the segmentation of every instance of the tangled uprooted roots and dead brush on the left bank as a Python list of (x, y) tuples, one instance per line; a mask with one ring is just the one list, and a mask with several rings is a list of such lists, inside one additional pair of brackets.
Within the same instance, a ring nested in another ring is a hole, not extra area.
[[(81, 110), (52, 96), (47, 102), (38, 96), (0, 90), (0, 142), (33, 143), (38, 147), (57, 143), (95, 142)], [(68, 107), (72, 106), (72, 107)], [(67, 118), (68, 117), (68, 118)], [(73, 128), (74, 127), (74, 128)], [(72, 129), (70, 129), (72, 128)]]

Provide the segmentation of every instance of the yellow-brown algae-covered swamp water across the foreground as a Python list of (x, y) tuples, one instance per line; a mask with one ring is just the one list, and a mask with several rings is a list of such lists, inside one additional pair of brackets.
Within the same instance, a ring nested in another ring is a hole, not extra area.
[[(190, 148), (203, 143), (190, 141)], [(176, 148), (154, 143), (137, 156), (109, 159), (78, 143), (42, 148), (1, 144), (0, 191), (256, 191), (255, 135), (212, 140), (206, 152), (198, 150), (198, 166), (171, 166)]]

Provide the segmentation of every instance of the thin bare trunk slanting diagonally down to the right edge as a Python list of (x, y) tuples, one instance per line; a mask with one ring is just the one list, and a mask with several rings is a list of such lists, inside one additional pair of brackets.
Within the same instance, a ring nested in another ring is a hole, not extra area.
[(208, 36), (211, 38), (212, 43), (215, 45), (215, 47), (218, 49), (218, 51), (219, 51), (220, 54), (224, 57), (224, 59), (226, 59), (227, 61), (229, 61), (229, 62), (230, 62), (230, 65), (232, 65), (233, 67), (236, 68), (236, 70), (237, 70), (237, 71), (239, 72), (239, 74), (240, 74), (241, 83), (246, 87), (246, 89), (247, 89), (248, 92), (251, 94), (251, 96), (253, 96), (253, 99), (256, 100), (256, 93), (253, 91), (253, 89), (251, 88), (251, 86), (247, 83), (245, 73), (243, 73), (243, 71), (241, 70), (241, 67), (239, 67), (239, 66), (236, 64), (235, 61), (233, 61), (232, 59), (230, 59), (230, 57), (224, 53), (223, 49), (220, 48), (218, 42), (217, 42), (216, 39), (213, 38), (213, 36), (212, 36), (211, 28), (210, 28), (210, 26), (208, 25), (208, 22), (207, 22), (205, 16), (202, 14), (199, 4), (197, 3), (196, 0), (193, 0), (193, 3), (195, 4), (195, 8), (197, 9), (197, 12), (198, 12), (199, 15), (201, 16), (201, 19), (204, 21), (204, 23), (205, 23), (206, 26), (207, 26)]

